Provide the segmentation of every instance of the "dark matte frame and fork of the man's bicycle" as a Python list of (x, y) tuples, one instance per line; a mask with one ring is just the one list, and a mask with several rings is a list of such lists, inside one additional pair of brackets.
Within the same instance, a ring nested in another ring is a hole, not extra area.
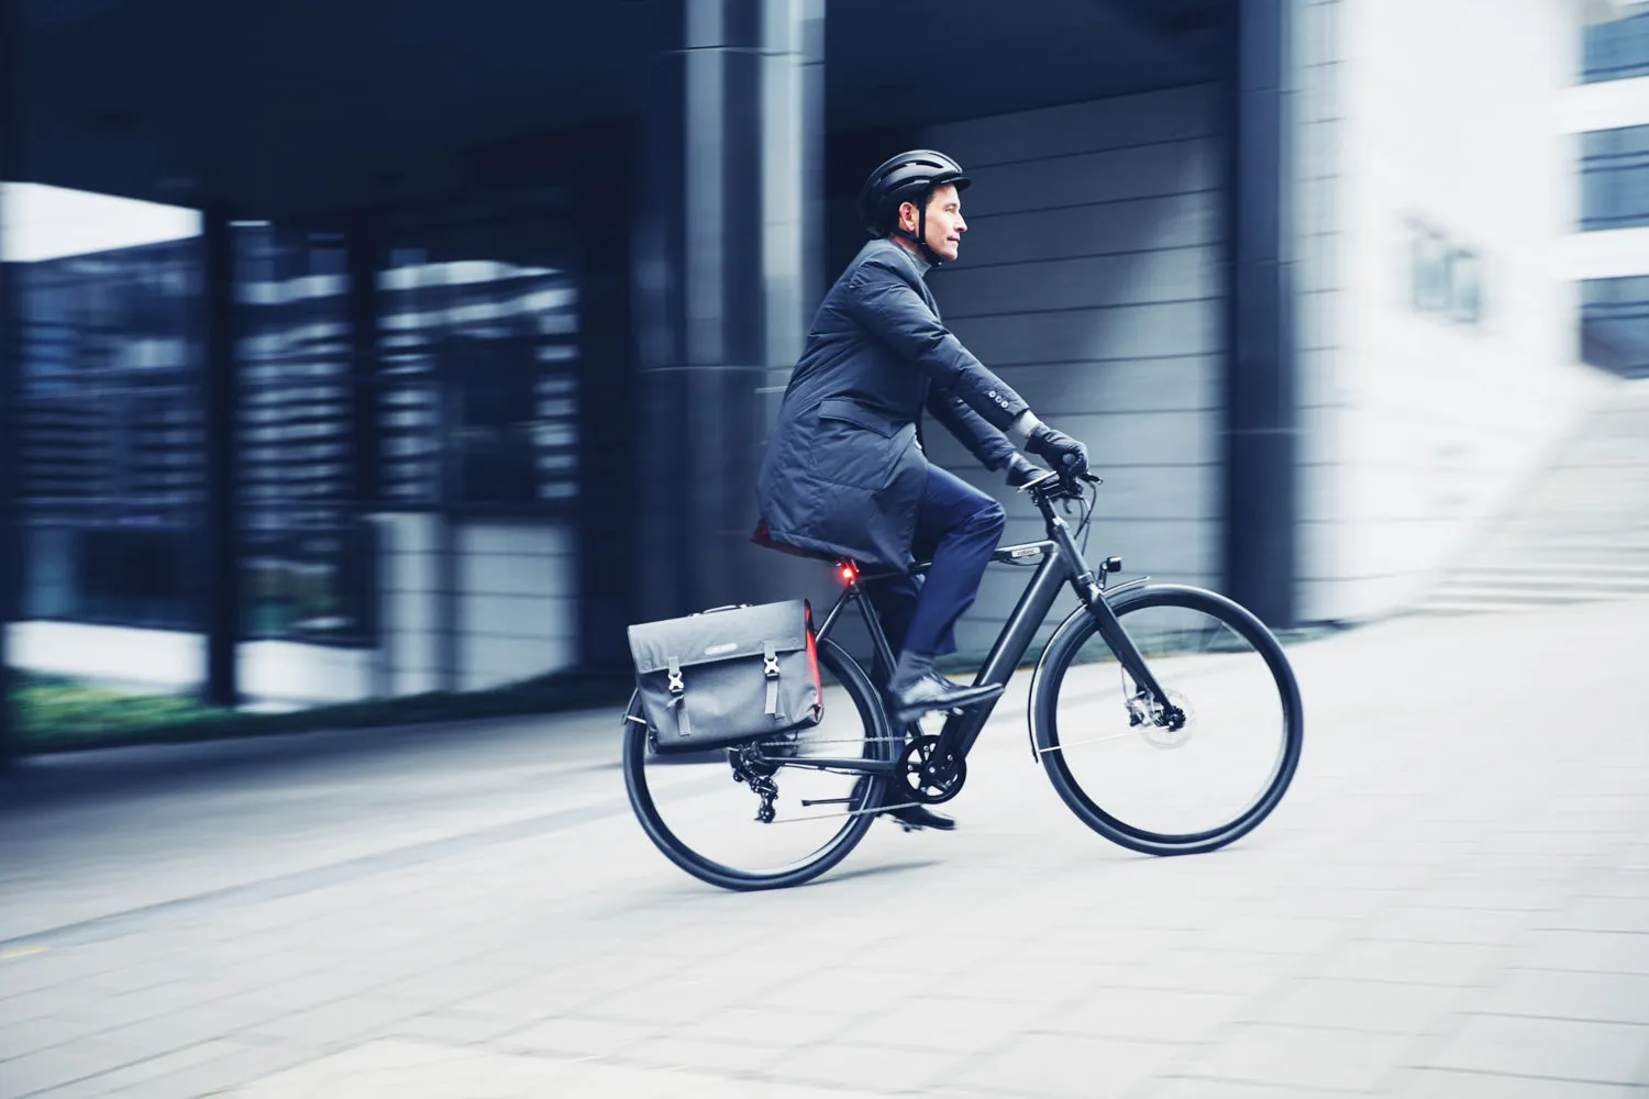
[[(1037, 550), (1042, 554), (1042, 562), (1037, 565), (1036, 573), (1032, 573), (1031, 582), (1021, 593), (1012, 613), (1008, 616), (1001, 633), (991, 644), (991, 651), (984, 657), (984, 664), (980, 666), (980, 671), (973, 679), (973, 685), (1006, 685), (1008, 680), (1012, 679), (1014, 671), (1024, 661), (1024, 656), (1031, 648), (1032, 638), (1036, 638), (1036, 631), (1047, 620), (1049, 611), (1054, 610), (1054, 601), (1059, 598), (1060, 590), (1069, 583), (1072, 592), (1077, 593), (1082, 610), (1087, 610), (1088, 615), (1093, 616), (1100, 638), (1106, 646), (1110, 646), (1111, 652), (1128, 674), (1133, 676), (1133, 680), (1146, 694), (1149, 694), (1158, 705), (1169, 705), (1161, 684), (1156, 682), (1151, 669), (1146, 667), (1144, 656), (1123, 629), (1121, 621), (1106, 601), (1105, 587), (1095, 578), (1093, 570), (1088, 568), (1088, 564), (1082, 557), (1082, 550), (1077, 549), (1075, 539), (1070, 535), (1070, 526), (1062, 516), (1059, 516), (1059, 512), (1054, 511), (1054, 499), (1060, 498), (1054, 496), (1050, 491), (1050, 481), (1057, 481), (1057, 478), (1049, 475), (1042, 481), (1026, 486), (1036, 499), (1037, 507), (1042, 511), (1042, 517), (1047, 522), (1049, 539), (1044, 542), (1004, 545), (991, 557), (996, 562), (1012, 562), (1019, 557), (1029, 557), (1032, 550)], [(831, 628), (841, 618), (843, 610), (846, 610), (848, 605), (857, 606), (874, 648), (876, 669), (872, 671), (877, 671), (881, 682), (886, 682), (894, 667), (892, 648), (887, 643), (887, 634), (882, 633), (882, 623), (876, 616), (876, 608), (871, 605), (869, 593), (864, 590), (857, 572), (851, 572), (849, 575), (851, 580), (848, 582), (846, 590), (831, 606), (829, 615), (824, 616), (824, 623), (820, 626), (818, 636), (824, 638), (829, 634)], [(963, 710), (961, 713), (951, 713), (945, 720), (945, 727), (940, 732), (940, 751), (955, 751), (961, 758), (966, 758), (975, 741), (978, 741), (980, 733), (984, 732), (984, 723), (989, 720), (994, 709), (996, 700), (991, 700)], [(895, 769), (890, 763), (871, 763), (862, 760), (787, 760), (787, 763), (792, 766), (800, 763), (801, 766), (810, 768), (834, 766), (877, 773)]]

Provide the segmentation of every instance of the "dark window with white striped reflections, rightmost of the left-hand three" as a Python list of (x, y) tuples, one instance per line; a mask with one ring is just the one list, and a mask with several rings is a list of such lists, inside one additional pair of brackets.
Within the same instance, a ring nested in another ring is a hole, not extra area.
[(577, 496), (579, 288), (557, 201), (518, 193), (391, 222), (388, 504), (543, 512)]

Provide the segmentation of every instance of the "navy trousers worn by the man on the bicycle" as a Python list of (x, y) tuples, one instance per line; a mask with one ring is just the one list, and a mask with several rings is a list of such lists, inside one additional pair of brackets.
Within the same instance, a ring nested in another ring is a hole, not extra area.
[(980, 593), (984, 567), (1003, 537), (1003, 506), (953, 473), (928, 466), (910, 552), (933, 560), (925, 577), (882, 577), (866, 593), (894, 656), (956, 651), (955, 626)]

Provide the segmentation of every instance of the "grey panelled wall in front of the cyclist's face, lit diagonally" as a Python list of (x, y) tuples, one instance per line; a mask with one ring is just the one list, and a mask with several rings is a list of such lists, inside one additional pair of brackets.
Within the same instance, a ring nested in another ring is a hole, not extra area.
[[(933, 127), (922, 140), (973, 175), (961, 262), (930, 278), (945, 321), (1037, 415), (1090, 447), (1092, 557), (1125, 577), (1219, 575), (1222, 354), (1215, 89), (1184, 87)], [(1008, 506), (1034, 509), (928, 425), (928, 451)], [(963, 623), (989, 646), (1027, 572), (993, 567)]]

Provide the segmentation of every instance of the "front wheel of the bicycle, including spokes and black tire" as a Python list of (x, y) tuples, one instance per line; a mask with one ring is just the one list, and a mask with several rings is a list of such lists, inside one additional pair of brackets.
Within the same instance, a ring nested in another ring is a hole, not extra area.
[(1258, 825), (1299, 765), (1299, 687), (1276, 638), (1230, 600), (1179, 585), (1113, 608), (1181, 707), (1172, 728), (1078, 611), (1049, 644), (1034, 743), (1065, 804), (1106, 839), (1151, 855), (1215, 850)]

